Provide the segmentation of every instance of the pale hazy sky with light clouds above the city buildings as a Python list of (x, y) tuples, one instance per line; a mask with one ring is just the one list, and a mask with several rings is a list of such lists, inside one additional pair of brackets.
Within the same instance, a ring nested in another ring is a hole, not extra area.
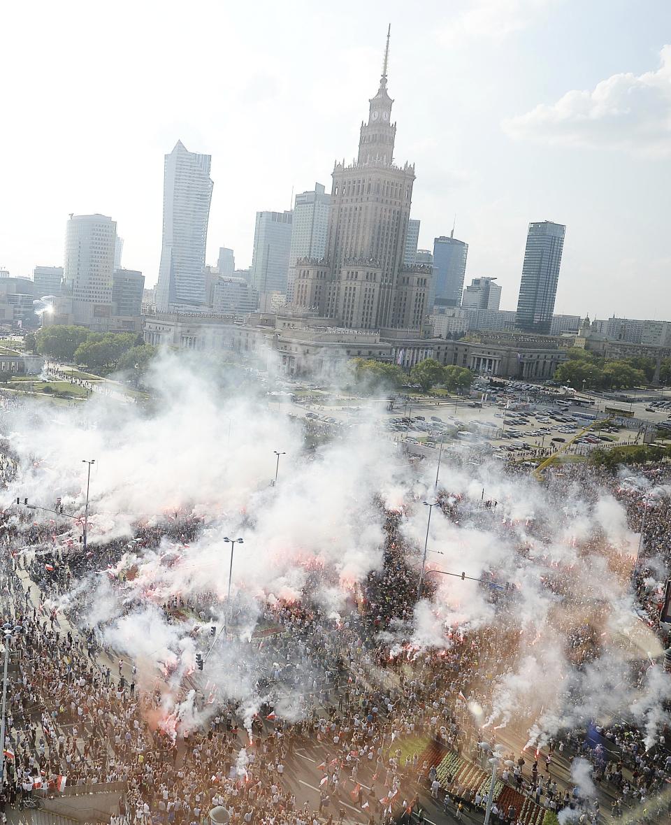
[(529, 221), (566, 224), (556, 312), (671, 320), (669, 0), (254, 4), (26, 0), (2, 13), (0, 268), (62, 265), (99, 212), (157, 280), (163, 156), (212, 155), (207, 261), (251, 263), (256, 210), (331, 188), (378, 88), (420, 247), (469, 244), (515, 309)]

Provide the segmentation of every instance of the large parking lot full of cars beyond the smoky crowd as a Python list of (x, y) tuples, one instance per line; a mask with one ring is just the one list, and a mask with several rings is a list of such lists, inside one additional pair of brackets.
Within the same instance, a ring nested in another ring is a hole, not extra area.
[[(608, 410), (613, 409), (656, 427), (671, 428), (671, 398), (661, 392), (654, 401), (650, 394), (646, 394), (647, 400), (631, 394), (628, 402), (600, 394), (580, 394), (583, 406), (577, 406), (569, 395), (550, 393), (558, 391), (539, 384), (497, 380), (491, 385), (476, 379), (470, 398), (399, 397), (391, 410), (381, 399), (336, 399), (335, 394), (329, 397), (328, 391), (317, 403), (293, 403), (285, 391), (279, 394), (284, 398), (278, 408), (333, 431), (344, 431), (368, 420), (377, 422), (381, 435), (397, 441), (426, 446), (438, 446), (440, 441), (446, 447), (470, 445), (500, 459), (551, 455), (561, 448), (586, 454), (596, 447), (640, 441), (638, 427), (612, 426), (612, 422), (585, 431), (595, 419), (603, 422), (611, 417)], [(276, 395), (274, 401), (279, 402)], [(589, 403), (591, 406), (585, 406)]]

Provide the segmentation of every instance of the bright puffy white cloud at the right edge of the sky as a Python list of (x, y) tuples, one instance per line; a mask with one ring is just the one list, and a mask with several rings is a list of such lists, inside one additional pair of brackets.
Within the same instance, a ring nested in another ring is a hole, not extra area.
[(671, 153), (671, 45), (652, 72), (613, 74), (594, 89), (566, 92), (551, 106), (536, 106), (504, 120), (511, 137), (550, 144)]

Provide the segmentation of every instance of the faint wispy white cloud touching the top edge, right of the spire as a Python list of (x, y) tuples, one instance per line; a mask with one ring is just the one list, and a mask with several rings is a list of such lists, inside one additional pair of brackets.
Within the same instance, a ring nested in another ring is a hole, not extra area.
[(468, 0), (466, 7), (439, 31), (447, 45), (465, 38), (502, 40), (529, 26), (539, 14), (558, 0)]

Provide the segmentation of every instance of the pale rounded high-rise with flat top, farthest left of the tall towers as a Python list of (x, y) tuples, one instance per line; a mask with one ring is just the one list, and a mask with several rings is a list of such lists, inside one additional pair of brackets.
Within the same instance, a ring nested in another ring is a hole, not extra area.
[(73, 323), (104, 330), (112, 315), (116, 222), (104, 214), (70, 215), (62, 294), (72, 299)]

